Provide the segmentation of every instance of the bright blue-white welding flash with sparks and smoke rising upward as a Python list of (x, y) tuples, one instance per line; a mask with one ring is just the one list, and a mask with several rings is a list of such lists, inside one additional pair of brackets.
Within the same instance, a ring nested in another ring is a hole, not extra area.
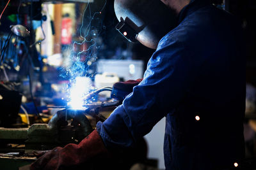
[[(87, 76), (87, 70), (89, 69), (89, 66), (92, 65), (92, 62), (94, 62), (97, 59), (97, 56), (93, 54), (93, 46), (96, 44), (96, 40), (100, 35), (100, 31), (98, 29), (92, 30), (92, 21), (95, 19), (96, 15), (99, 15), (102, 13), (106, 6), (107, 0), (105, 0), (104, 5), (102, 6), (102, 9), (93, 13), (91, 11), (91, 4), (86, 4), (86, 8), (83, 11), (83, 18), (82, 18), (82, 24), (79, 29), (80, 37), (83, 38), (82, 41), (74, 41), (72, 44), (72, 49), (70, 50), (72, 53), (70, 53), (70, 57), (67, 60), (69, 64), (64, 69), (65, 74), (62, 74), (61, 76), (70, 78), (70, 84), (66, 87), (67, 92), (67, 101), (68, 106), (74, 109), (80, 109), (83, 108), (84, 104), (86, 104), (86, 101), (84, 100), (84, 96), (90, 92), (90, 90), (93, 89), (92, 82), (89, 77)], [(86, 25), (84, 25), (84, 17), (86, 16), (86, 11), (89, 12), (88, 17), (90, 18), (89, 22), (86, 22)], [(102, 22), (100, 27), (102, 27)], [(84, 29), (82, 33), (82, 29)], [(90, 35), (93, 34), (93, 38), (90, 38)], [(90, 39), (88, 39), (90, 38)], [(90, 46), (89, 46), (90, 43)], [(83, 49), (76, 53), (76, 45), (82, 45)], [(88, 45), (88, 46), (87, 46)], [(83, 59), (82, 53), (86, 54), (86, 57)], [(90, 59), (91, 58), (91, 59)], [(95, 74), (95, 73), (94, 73)]]

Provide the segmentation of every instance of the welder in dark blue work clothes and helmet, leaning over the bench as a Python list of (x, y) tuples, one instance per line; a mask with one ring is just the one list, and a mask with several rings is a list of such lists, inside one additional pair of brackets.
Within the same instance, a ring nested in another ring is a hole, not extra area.
[[(240, 25), (232, 15), (207, 0), (161, 1), (170, 13), (174, 11), (177, 20), (174, 28), (167, 27), (168, 32), (157, 45), (147, 35), (158, 34), (161, 25), (159, 29), (139, 25), (140, 16), (132, 10), (141, 5), (141, 15), (145, 15), (148, 11), (143, 5), (152, 1), (115, 0), (115, 10), (130, 8), (116, 12), (121, 22), (117, 29), (124, 31), (124, 36), (132, 32), (143, 45), (157, 46), (143, 80), (79, 145), (54, 148), (36, 160), (31, 169), (70, 169), (99, 155), (105, 157), (111, 150), (132, 147), (163, 117), (166, 169), (241, 166), (245, 59)], [(125, 3), (131, 5), (127, 7)], [(152, 6), (155, 8), (158, 7)], [(144, 18), (151, 17), (153, 14)], [(127, 39), (134, 40), (132, 36)]]

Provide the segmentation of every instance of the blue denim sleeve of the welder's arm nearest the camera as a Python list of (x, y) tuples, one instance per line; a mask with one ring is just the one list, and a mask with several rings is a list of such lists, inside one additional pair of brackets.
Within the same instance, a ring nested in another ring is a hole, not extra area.
[[(107, 147), (128, 147), (152, 130), (182, 100), (200, 61), (168, 34), (148, 61), (143, 81), (127, 96), (97, 131)], [(200, 59), (199, 59), (200, 60)]]

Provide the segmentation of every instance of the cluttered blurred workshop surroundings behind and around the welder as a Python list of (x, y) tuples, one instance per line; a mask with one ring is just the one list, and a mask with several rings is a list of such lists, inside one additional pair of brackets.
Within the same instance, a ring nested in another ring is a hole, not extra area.
[[(122, 102), (121, 94), (113, 95), (113, 84), (143, 77), (154, 50), (130, 43), (116, 31), (113, 3), (0, 1), (0, 169), (19, 169), (33, 162), (40, 151), (79, 143)], [(244, 29), (244, 137), (246, 160), (253, 167), (256, 1), (212, 3), (235, 15)], [(147, 159), (132, 162), (131, 169), (164, 169), (164, 125), (163, 118), (145, 136), (141, 147), (147, 148)]]

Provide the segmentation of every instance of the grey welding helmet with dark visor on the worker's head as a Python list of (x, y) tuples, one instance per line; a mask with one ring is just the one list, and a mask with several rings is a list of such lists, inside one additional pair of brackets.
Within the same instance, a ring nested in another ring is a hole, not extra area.
[(115, 0), (116, 29), (129, 41), (156, 49), (177, 24), (177, 15), (160, 0)]

